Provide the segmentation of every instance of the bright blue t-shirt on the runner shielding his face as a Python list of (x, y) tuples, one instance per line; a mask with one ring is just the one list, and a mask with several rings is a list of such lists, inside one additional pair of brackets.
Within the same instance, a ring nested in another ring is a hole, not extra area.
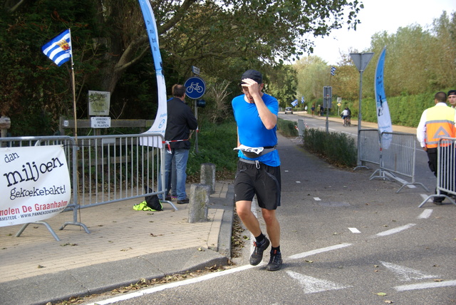
[[(234, 118), (237, 123), (237, 132), (239, 135), (239, 142), (243, 145), (259, 148), (274, 146), (277, 144), (277, 135), (276, 129), (277, 126), (271, 130), (264, 127), (261, 118), (259, 118), (259, 113), (257, 105), (254, 103), (247, 103), (244, 100), (244, 94), (233, 98), (232, 106), (234, 110)], [(266, 93), (261, 97), (264, 101), (266, 107), (273, 113), (277, 115), (279, 113), (279, 102), (276, 98), (268, 95)], [(277, 150), (272, 151), (271, 153), (266, 153), (256, 158), (249, 158), (239, 150), (239, 157), (242, 157), (247, 160), (259, 160), (259, 162), (264, 163), (269, 166), (279, 166), (279, 152)]]

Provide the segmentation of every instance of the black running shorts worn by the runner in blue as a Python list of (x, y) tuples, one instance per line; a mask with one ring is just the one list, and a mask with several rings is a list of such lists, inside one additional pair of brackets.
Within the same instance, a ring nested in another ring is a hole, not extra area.
[(239, 160), (234, 178), (234, 201), (252, 201), (257, 195), (258, 205), (266, 210), (280, 206), (280, 166), (257, 165)]

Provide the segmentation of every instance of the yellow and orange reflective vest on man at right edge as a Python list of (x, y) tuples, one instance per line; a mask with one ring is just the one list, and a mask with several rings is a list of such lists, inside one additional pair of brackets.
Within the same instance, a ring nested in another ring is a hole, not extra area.
[(455, 138), (455, 109), (434, 106), (426, 110), (426, 148), (437, 148), (440, 138)]

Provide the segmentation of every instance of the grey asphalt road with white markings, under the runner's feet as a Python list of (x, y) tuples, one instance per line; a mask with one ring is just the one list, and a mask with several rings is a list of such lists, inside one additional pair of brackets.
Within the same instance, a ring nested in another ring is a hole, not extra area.
[(335, 168), (281, 136), (278, 148), (281, 270), (266, 271), (269, 251), (263, 264), (250, 266), (248, 240), (232, 269), (96, 304), (456, 302), (454, 205), (418, 208), (419, 188), (396, 193), (395, 181), (369, 180), (373, 170)]

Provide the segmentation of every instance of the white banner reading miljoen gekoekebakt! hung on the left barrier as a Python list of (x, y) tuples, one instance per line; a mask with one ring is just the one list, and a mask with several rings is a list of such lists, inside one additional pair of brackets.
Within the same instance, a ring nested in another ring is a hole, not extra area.
[(71, 198), (61, 145), (0, 148), (0, 227), (48, 219)]

